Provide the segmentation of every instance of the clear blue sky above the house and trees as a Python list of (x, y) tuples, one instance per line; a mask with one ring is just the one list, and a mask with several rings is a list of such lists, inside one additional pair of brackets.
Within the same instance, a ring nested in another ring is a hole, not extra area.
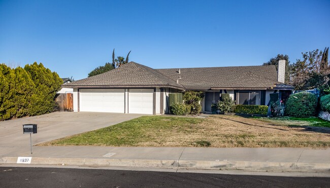
[(4, 1), (0, 63), (87, 77), (116, 56), (152, 68), (291, 63), (330, 46), (330, 1)]

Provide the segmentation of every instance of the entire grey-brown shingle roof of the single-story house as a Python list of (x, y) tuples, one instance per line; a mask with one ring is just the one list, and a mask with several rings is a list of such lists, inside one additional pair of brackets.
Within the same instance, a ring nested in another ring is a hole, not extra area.
[(65, 84), (65, 87), (171, 87), (182, 90), (293, 89), (292, 86), (277, 82), (274, 65), (180, 68), (179, 73), (179, 68), (153, 69), (135, 62)]

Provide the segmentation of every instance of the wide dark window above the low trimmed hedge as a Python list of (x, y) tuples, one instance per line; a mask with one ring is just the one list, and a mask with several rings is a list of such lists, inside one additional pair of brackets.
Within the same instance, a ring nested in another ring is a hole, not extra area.
[(237, 104), (260, 105), (260, 91), (239, 91)]

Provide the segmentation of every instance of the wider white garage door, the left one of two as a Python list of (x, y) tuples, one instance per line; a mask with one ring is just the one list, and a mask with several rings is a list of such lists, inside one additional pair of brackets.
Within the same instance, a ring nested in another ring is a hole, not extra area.
[(125, 112), (124, 89), (81, 89), (80, 111)]

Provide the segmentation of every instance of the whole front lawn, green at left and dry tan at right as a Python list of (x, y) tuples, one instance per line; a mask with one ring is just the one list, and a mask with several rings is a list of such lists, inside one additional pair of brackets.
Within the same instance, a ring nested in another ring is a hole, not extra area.
[(330, 147), (330, 128), (290, 127), (240, 116), (150, 116), (41, 145)]

